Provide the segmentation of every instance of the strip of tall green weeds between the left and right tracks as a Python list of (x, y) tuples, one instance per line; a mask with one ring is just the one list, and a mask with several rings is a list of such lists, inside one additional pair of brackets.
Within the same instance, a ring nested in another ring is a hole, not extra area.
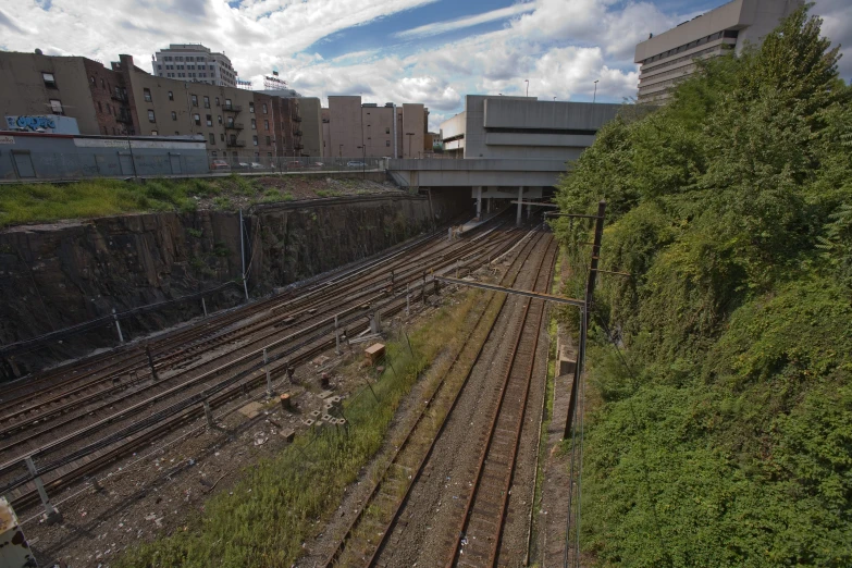
[[(333, 511), (345, 487), (379, 450), (397, 406), (420, 374), (464, 333), (480, 294), (440, 309), (410, 334), (387, 344), (381, 378), (345, 405), (347, 429), (311, 430), (279, 456), (247, 468), (227, 494), (207, 504), (187, 530), (131, 550), (118, 567), (284, 567), (302, 552), (314, 522)], [(373, 396), (372, 393), (375, 393)]]

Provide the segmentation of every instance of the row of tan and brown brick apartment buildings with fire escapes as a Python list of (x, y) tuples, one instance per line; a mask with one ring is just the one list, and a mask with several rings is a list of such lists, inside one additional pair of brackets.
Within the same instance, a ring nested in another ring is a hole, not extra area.
[[(305, 119), (302, 100), (317, 109)], [(79, 57), (0, 52), (0, 111), (71, 116), (81, 134), (202, 136), (211, 157), (229, 161), (319, 156), (322, 140), (319, 99), (159, 77), (131, 55), (106, 67)]]

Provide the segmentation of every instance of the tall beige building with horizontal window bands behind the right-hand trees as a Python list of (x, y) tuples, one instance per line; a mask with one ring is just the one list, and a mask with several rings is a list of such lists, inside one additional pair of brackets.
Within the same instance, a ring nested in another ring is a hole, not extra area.
[(637, 46), (639, 102), (665, 102), (696, 59), (757, 46), (802, 0), (733, 0)]

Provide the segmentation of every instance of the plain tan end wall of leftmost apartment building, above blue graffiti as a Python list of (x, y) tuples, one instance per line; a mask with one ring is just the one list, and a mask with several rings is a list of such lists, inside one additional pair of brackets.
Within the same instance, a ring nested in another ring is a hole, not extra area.
[[(52, 73), (55, 88), (41, 73)], [(85, 79), (84, 58), (53, 58), (36, 53), (0, 54), (0, 113), (49, 114), (50, 99), (62, 102), (63, 114), (77, 120), (83, 134), (99, 134), (98, 118)], [(5, 121), (3, 121), (3, 124)]]

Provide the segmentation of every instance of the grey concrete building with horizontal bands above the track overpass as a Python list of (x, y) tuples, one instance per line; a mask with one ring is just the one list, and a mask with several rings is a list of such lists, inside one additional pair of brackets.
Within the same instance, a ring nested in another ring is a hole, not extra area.
[(465, 111), (441, 124), (454, 158), (576, 160), (620, 104), (468, 95)]

